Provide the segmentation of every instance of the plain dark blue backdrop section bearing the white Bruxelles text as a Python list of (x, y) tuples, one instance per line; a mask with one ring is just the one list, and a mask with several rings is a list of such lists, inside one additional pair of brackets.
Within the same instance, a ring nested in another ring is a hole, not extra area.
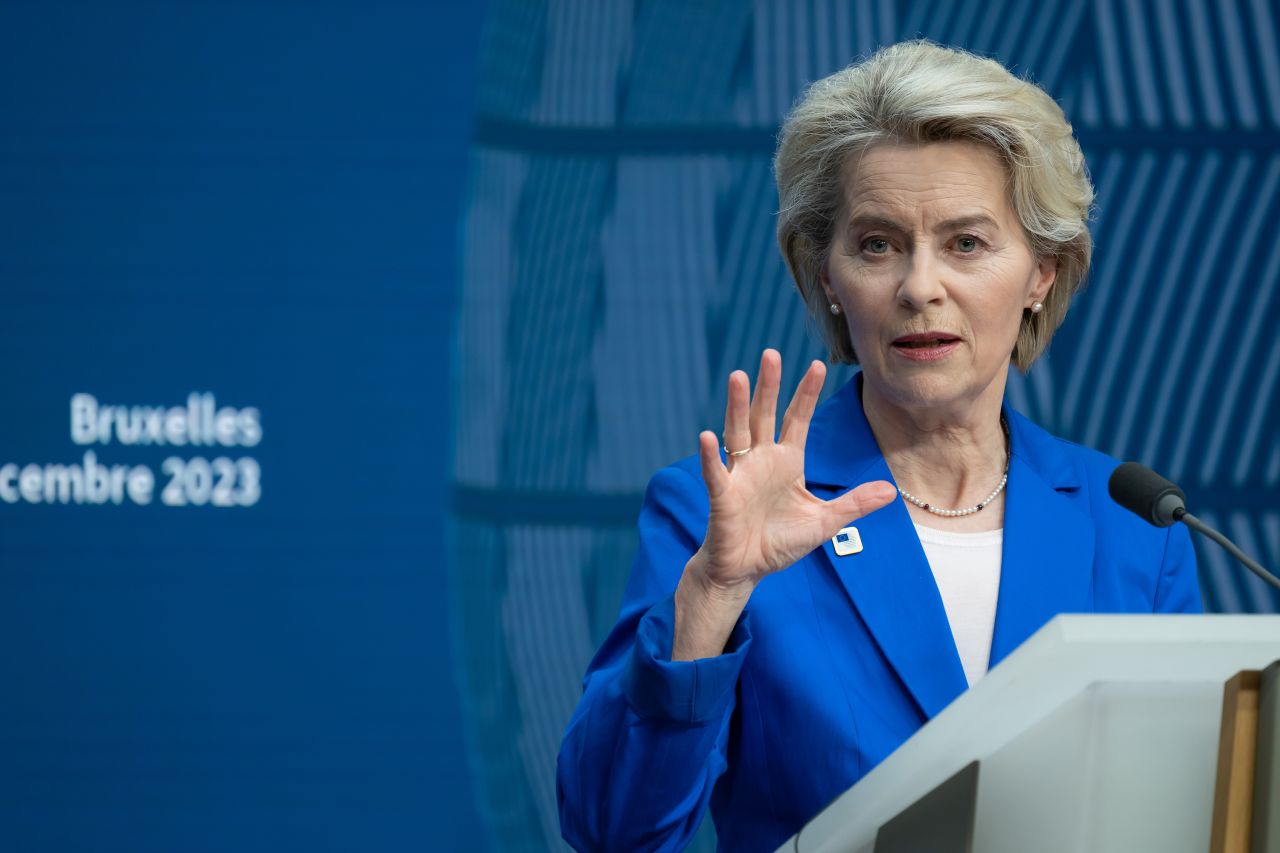
[[(0, 849), (484, 838), (443, 557), (483, 13), (0, 4), (0, 466), (154, 478), (0, 484)], [(73, 441), (81, 393), (123, 429)]]

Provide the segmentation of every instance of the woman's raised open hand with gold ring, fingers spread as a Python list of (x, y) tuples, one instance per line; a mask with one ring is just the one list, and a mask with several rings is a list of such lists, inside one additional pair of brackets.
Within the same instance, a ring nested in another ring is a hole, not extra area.
[[(762, 578), (786, 569), (850, 521), (897, 496), (884, 480), (863, 483), (831, 501), (805, 488), (805, 439), (827, 370), (820, 361), (809, 365), (774, 439), (781, 375), (782, 357), (774, 350), (760, 357), (754, 397), (745, 373), (730, 375), (727, 462), (721, 461), (714, 433), (699, 435), (710, 516), (707, 537), (685, 566), (676, 592), (673, 660), (719, 654)], [(744, 450), (748, 452), (735, 455)]]

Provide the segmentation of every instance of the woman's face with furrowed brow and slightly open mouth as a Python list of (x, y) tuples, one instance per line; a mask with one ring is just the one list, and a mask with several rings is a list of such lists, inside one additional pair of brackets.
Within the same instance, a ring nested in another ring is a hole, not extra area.
[(1056, 274), (1032, 254), (1007, 179), (972, 142), (882, 145), (845, 167), (822, 286), (864, 393), (940, 411), (1004, 396), (1023, 310)]

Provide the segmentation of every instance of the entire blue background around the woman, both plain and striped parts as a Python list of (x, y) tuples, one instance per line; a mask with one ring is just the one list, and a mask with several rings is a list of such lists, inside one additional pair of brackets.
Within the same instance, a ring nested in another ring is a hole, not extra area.
[[(730, 370), (819, 353), (777, 124), (909, 36), (1041, 82), (1097, 184), (1092, 282), (1014, 405), (1276, 566), (1277, 17), (0, 5), (0, 465), (77, 461), (77, 392), (264, 428), (227, 452), (261, 464), (252, 507), (0, 503), (0, 847), (559, 848), (556, 748), (645, 480)], [(1208, 608), (1277, 610), (1199, 556)]]

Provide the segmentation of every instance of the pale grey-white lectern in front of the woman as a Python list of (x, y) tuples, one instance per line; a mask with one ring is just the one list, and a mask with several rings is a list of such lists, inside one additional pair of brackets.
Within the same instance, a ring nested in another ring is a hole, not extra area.
[(1224, 684), (1277, 658), (1280, 616), (1056, 616), (780, 852), (1207, 853)]

